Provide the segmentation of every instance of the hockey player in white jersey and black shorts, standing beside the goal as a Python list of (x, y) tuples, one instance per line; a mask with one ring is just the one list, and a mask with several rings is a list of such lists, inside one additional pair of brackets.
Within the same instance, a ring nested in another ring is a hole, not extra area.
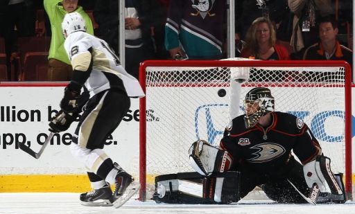
[[(64, 47), (73, 66), (73, 77), (64, 89), (61, 110), (49, 127), (51, 132), (63, 132), (81, 113), (71, 153), (85, 164), (93, 190), (81, 194), (80, 201), (87, 206), (118, 208), (137, 193), (139, 184), (105, 154), (103, 146), (130, 108), (130, 97), (142, 97), (144, 92), (107, 43), (85, 29), (78, 12), (65, 15)], [(110, 184), (116, 186), (113, 193)]]

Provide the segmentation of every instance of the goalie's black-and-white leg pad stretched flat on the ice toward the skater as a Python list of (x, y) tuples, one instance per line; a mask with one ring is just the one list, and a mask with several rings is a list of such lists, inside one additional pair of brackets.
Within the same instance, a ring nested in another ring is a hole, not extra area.
[(180, 172), (155, 177), (153, 200), (169, 204), (230, 204), (238, 202), (240, 172)]

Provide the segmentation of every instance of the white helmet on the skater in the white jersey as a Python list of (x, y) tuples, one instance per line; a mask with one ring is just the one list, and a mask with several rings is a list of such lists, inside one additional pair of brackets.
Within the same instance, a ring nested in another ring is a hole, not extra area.
[(64, 16), (62, 21), (62, 33), (63, 35), (67, 33), (68, 36), (76, 31), (86, 32), (85, 20), (78, 12), (69, 12)]

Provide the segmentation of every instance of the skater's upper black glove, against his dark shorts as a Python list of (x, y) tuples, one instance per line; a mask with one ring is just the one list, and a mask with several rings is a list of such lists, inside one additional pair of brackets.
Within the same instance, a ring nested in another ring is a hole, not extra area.
[(70, 84), (64, 89), (64, 97), (60, 101), (60, 109), (67, 113), (78, 112), (80, 91), (72, 90)]

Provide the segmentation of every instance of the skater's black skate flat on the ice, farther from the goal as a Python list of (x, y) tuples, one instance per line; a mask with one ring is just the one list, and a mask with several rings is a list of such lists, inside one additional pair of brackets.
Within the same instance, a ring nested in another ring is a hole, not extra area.
[(92, 190), (80, 195), (81, 204), (84, 206), (112, 206), (114, 198), (109, 185), (103, 186), (98, 190)]

